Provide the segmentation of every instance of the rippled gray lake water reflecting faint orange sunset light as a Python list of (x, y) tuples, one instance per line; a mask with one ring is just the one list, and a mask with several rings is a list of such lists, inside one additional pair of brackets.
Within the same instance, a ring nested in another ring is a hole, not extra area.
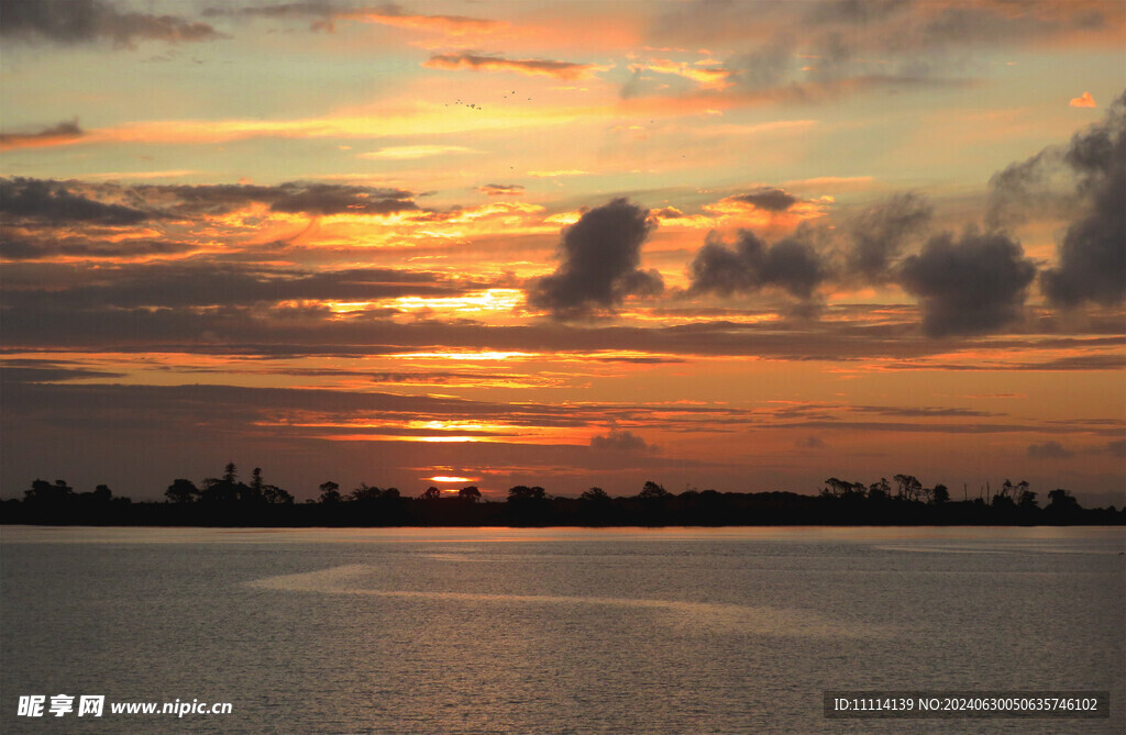
[[(1106, 528), (6, 527), (0, 729), (1121, 733), (1124, 552)], [(829, 720), (835, 689), (1109, 690), (1111, 718)], [(107, 709), (17, 715), (59, 693)], [(232, 712), (108, 710), (176, 699)]]

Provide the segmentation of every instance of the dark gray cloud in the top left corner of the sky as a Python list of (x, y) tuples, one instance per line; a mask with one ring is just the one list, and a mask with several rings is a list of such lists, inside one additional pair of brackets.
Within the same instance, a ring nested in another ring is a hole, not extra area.
[(137, 41), (225, 38), (205, 23), (122, 11), (102, 0), (0, 0), (0, 36), (59, 44), (111, 41), (119, 46), (132, 46)]

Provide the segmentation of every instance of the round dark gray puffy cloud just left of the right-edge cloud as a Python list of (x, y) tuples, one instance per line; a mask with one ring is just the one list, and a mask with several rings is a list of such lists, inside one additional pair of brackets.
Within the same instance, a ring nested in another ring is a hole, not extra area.
[(1036, 266), (1002, 233), (967, 230), (931, 237), (903, 261), (900, 285), (917, 296), (930, 337), (984, 334), (1021, 317)]

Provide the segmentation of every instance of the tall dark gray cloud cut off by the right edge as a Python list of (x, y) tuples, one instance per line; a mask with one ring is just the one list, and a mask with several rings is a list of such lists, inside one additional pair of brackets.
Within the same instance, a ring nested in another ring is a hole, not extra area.
[(1064, 161), (1079, 177), (1084, 214), (1060, 243), (1058, 266), (1040, 276), (1055, 304), (1126, 298), (1126, 93), (1102, 123), (1072, 137)]

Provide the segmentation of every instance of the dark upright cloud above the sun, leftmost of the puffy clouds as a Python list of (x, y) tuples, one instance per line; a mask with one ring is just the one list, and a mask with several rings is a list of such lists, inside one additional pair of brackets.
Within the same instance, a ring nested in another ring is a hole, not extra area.
[(572, 320), (613, 312), (629, 295), (660, 294), (660, 274), (638, 268), (641, 247), (655, 226), (647, 210), (626, 199), (588, 210), (563, 231), (562, 262), (531, 286), (529, 305)]

